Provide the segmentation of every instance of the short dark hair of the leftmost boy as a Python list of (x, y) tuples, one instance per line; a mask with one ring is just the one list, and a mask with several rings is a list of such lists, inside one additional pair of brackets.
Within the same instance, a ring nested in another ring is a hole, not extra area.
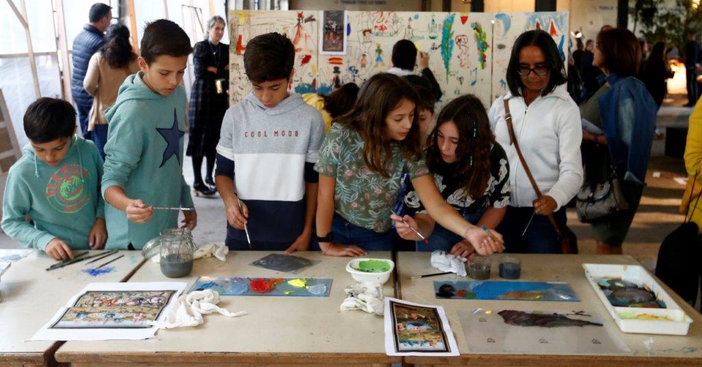
[(65, 100), (42, 97), (32, 102), (25, 117), (25, 135), (43, 144), (58, 138), (70, 138), (76, 129), (76, 110)]

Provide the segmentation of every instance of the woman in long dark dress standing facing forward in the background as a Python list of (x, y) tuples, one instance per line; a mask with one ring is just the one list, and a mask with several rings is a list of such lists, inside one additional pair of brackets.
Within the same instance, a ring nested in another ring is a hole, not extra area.
[[(195, 81), (190, 92), (190, 136), (185, 154), (192, 156), (192, 190), (197, 196), (211, 197), (217, 192), (212, 173), (222, 120), (229, 108), (229, 45), (221, 42), (225, 29), (224, 18), (213, 16), (207, 21), (207, 38), (192, 51)], [(204, 159), (206, 176), (202, 180)]]

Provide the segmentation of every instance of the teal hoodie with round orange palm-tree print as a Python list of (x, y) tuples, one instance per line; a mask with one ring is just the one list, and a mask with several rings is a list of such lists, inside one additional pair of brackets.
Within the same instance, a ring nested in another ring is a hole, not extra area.
[[(2, 229), (22, 246), (46, 250), (58, 237), (71, 248), (89, 248), (96, 218), (105, 218), (100, 196), (102, 158), (93, 142), (74, 136), (68, 153), (49, 166), (26, 145), (7, 176)], [(32, 218), (34, 225), (25, 220)]]

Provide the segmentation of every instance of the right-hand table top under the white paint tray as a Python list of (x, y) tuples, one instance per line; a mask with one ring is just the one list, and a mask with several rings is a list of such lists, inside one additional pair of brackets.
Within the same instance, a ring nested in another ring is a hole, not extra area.
[[(501, 280), (498, 276), (498, 269), (495, 265), (501, 255), (493, 256), (493, 266), (491, 280)], [(536, 301), (509, 301), (509, 300), (451, 300), (437, 299), (433, 287), (435, 280), (461, 279), (455, 274), (434, 276), (425, 279), (410, 279), (411, 276), (431, 274), (437, 269), (430, 264), (430, 253), (398, 253), (397, 271), (399, 277), (399, 293), (403, 300), (417, 302), (425, 305), (440, 305), (446, 310), (453, 335), (456, 337), (458, 349), (461, 356), (455, 357), (431, 357), (431, 356), (408, 356), (405, 361), (427, 366), (444, 366), (463, 364), (470, 361), (471, 364), (491, 365), (500, 364), (522, 364), (522, 365), (589, 365), (597, 361), (607, 363), (607, 366), (614, 364), (651, 363), (662, 366), (673, 364), (702, 365), (702, 316), (692, 307), (687, 305), (679, 296), (675, 295), (670, 288), (666, 291), (675, 298), (684, 312), (686, 312), (693, 322), (690, 325), (689, 333), (685, 336), (676, 335), (649, 335), (622, 333), (614, 319), (609, 316), (607, 309), (592, 286), (585, 279), (583, 263), (598, 264), (631, 264), (640, 265), (630, 256), (625, 255), (517, 255), (522, 260), (522, 281), (567, 281), (578, 295), (581, 302), (536, 302)], [(571, 312), (574, 307), (577, 309), (588, 309), (600, 314), (602, 321), (609, 323), (623, 342), (632, 350), (630, 354), (619, 355), (516, 355), (516, 354), (475, 354), (470, 352), (470, 347), (466, 343), (461, 323), (458, 320), (459, 309), (482, 309), (499, 310), (505, 307), (517, 309), (540, 309), (548, 307), (554, 312)], [(644, 341), (651, 338), (654, 342), (648, 350)], [(661, 364), (662, 363), (662, 364)]]

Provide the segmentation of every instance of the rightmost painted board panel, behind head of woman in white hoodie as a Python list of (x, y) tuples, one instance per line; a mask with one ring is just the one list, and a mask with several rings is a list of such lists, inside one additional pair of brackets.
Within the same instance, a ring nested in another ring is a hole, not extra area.
[(492, 52), (492, 98), (495, 100), (507, 93), (507, 65), (512, 45), (522, 34), (532, 29), (548, 32), (555, 41), (561, 57), (568, 54), (569, 24), (567, 12), (496, 13), (494, 15)]

